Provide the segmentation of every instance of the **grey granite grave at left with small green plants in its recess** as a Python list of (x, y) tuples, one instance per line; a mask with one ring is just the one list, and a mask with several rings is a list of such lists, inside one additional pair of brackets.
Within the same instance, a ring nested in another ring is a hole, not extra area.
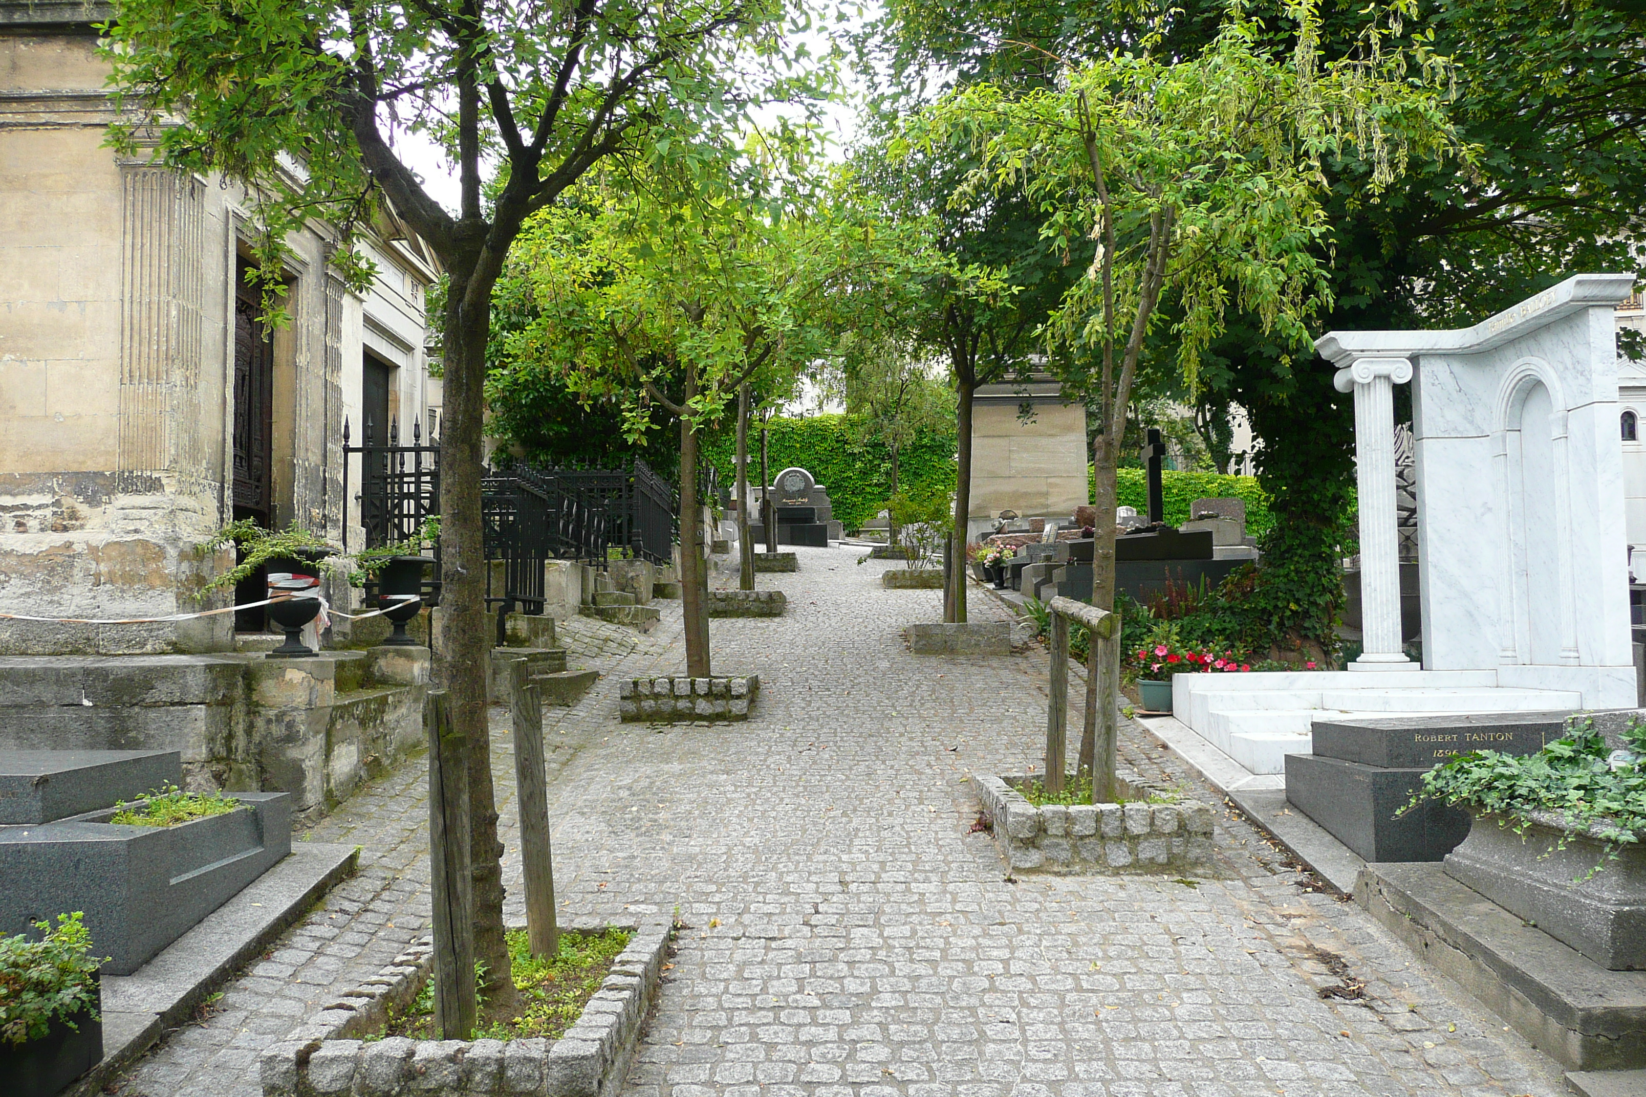
[(128, 975), (291, 852), (290, 793), (173, 827), (114, 826), (100, 809), (0, 827), (0, 934), (84, 911), (102, 970)]

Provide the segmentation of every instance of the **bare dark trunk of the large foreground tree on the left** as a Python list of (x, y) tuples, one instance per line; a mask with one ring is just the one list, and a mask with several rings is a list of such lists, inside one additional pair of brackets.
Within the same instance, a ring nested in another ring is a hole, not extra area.
[(486, 337), (491, 316), (463, 311), (466, 278), (451, 273), (446, 294), (446, 386), (439, 452), (441, 610), (436, 684), (451, 697), (456, 732), (467, 740), (469, 857), (474, 873), (474, 959), (486, 965), (487, 1011), (515, 1010), (518, 998), (504, 941), (502, 842), (492, 791), (491, 729), (486, 719), (486, 553), (481, 541), (481, 428), (486, 416)]

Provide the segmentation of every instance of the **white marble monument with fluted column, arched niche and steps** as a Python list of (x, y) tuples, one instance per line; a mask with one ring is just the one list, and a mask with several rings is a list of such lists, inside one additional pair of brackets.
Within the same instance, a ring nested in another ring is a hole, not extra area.
[[(1365, 655), (1345, 673), (1179, 674), (1174, 712), (1259, 775), (1335, 714), (1633, 707), (1615, 306), (1575, 275), (1457, 331), (1330, 332), (1355, 393)], [(1412, 383), (1422, 668), (1401, 650), (1394, 386)], [(1233, 681), (1231, 681), (1233, 679)]]

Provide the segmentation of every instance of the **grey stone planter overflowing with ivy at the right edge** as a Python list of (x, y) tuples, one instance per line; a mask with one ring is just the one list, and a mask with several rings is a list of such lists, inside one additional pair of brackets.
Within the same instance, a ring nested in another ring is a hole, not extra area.
[(1623, 747), (1593, 719), (1534, 755), (1478, 750), (1424, 775), (1414, 798), (1470, 812), (1445, 872), (1611, 970), (1646, 969), (1646, 725)]

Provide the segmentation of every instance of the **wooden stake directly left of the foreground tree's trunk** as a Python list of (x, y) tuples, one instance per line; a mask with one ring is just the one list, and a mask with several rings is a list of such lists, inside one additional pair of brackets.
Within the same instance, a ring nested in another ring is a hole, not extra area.
[(469, 1039), (474, 1002), (474, 877), (469, 870), (467, 737), (451, 719), (451, 697), (431, 689), (428, 729), (428, 857), (435, 908), (435, 1026), (443, 1039)]

